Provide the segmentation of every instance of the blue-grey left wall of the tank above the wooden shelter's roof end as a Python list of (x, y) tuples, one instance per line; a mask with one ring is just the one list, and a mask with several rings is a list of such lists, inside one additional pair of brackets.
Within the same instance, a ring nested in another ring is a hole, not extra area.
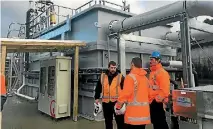
[(68, 37), (72, 40), (85, 42), (97, 41), (98, 28), (94, 23), (98, 21), (98, 12), (90, 11), (71, 21), (72, 31)]

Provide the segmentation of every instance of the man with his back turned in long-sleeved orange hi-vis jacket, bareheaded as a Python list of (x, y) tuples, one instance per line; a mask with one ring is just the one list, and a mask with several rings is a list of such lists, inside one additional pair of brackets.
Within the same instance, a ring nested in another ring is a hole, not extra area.
[[(149, 82), (147, 72), (142, 68), (142, 60), (135, 57), (131, 61), (131, 71), (124, 80), (122, 90), (115, 105), (116, 113), (126, 107), (124, 123), (127, 129), (145, 129), (151, 124), (149, 107)], [(120, 113), (122, 114), (122, 113)]]

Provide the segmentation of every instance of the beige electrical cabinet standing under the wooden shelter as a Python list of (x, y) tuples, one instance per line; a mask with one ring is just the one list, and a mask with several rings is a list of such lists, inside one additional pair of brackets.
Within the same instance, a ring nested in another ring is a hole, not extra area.
[(53, 118), (70, 116), (71, 58), (56, 56), (40, 62), (38, 110)]

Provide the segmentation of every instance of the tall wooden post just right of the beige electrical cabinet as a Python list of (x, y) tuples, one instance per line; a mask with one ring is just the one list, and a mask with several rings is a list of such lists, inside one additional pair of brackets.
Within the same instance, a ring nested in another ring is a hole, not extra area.
[(79, 47), (75, 48), (74, 62), (74, 102), (73, 102), (73, 120), (78, 120), (78, 67), (79, 67)]

